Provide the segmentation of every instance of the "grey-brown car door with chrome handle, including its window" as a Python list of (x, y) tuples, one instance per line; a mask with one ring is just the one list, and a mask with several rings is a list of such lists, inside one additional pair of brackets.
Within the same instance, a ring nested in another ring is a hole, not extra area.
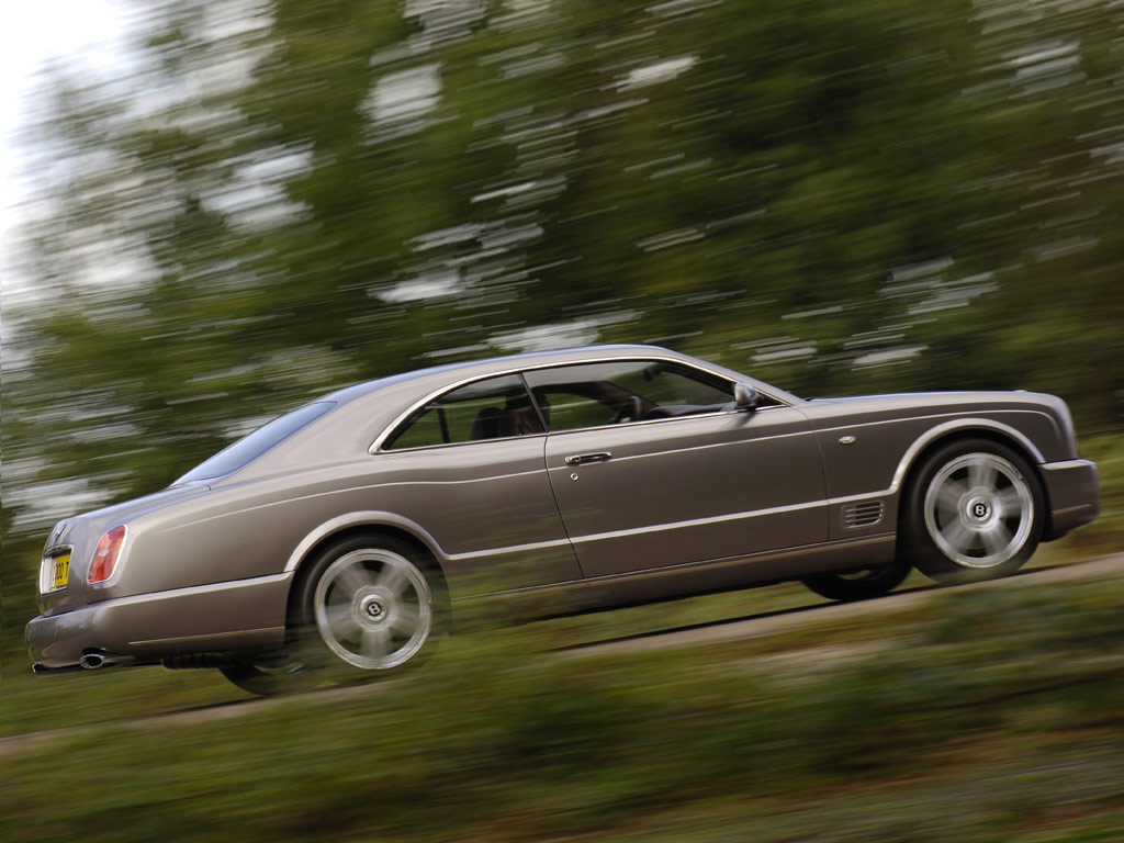
[(692, 366), (614, 361), (525, 373), (550, 424), (546, 468), (586, 577), (823, 542), (815, 436)]

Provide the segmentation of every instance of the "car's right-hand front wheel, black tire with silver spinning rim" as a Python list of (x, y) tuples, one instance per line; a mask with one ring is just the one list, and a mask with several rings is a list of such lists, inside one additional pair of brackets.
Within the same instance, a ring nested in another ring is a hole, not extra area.
[(1017, 571), (1039, 546), (1045, 505), (1026, 460), (989, 439), (933, 452), (905, 490), (899, 559), (937, 582)]

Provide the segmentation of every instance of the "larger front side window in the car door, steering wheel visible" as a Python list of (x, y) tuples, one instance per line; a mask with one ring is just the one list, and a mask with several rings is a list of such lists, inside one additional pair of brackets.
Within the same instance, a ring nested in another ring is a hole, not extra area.
[(525, 373), (551, 430), (731, 409), (723, 378), (662, 361), (587, 363)]

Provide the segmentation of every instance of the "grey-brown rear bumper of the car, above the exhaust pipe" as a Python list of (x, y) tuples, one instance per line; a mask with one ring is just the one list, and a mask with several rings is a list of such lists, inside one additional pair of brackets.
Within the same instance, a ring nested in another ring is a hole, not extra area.
[(284, 643), (291, 580), (290, 572), (48, 613), (28, 623), (28, 652), (37, 673), (54, 673), (73, 669), (88, 652), (151, 664), (172, 655), (277, 647)]

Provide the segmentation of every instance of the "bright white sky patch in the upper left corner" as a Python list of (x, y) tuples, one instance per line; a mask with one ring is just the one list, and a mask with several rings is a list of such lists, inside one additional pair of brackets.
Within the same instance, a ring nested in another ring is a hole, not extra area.
[(36, 75), (51, 58), (111, 69), (127, 20), (123, 0), (0, 0), (0, 283), (10, 280), (4, 255), (29, 175), (13, 134), (34, 112)]

